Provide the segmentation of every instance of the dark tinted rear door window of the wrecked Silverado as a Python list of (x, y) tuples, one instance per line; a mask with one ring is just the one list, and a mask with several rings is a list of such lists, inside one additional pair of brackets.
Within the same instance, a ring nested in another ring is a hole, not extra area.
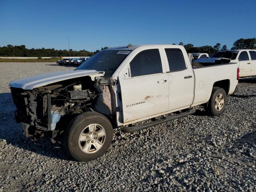
[(184, 56), (180, 49), (165, 49), (170, 72), (186, 69)]

